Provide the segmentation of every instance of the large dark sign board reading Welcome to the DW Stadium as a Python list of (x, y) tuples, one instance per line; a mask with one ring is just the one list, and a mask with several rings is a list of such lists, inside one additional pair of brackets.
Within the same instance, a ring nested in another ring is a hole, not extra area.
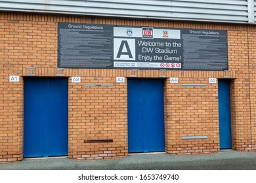
[(228, 70), (227, 32), (58, 23), (58, 67)]

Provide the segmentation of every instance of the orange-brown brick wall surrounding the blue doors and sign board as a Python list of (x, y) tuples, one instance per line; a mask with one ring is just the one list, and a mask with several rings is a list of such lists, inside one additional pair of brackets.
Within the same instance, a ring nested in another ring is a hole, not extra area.
[[(227, 30), (231, 72), (125, 69), (56, 71), (58, 22)], [(32, 74), (81, 76), (81, 83), (69, 80), (69, 158), (127, 156), (127, 77), (131, 75), (140, 78), (167, 77), (164, 88), (165, 150), (170, 154), (219, 151), (218, 84), (209, 84), (209, 78), (229, 76), (232, 78), (232, 148), (255, 152), (255, 40), (254, 25), (0, 12), (0, 162), (23, 159), (23, 76)], [(19, 75), (20, 82), (9, 82), (10, 75)], [(126, 77), (125, 83), (116, 83), (116, 76)], [(170, 77), (178, 77), (179, 84), (171, 84)], [(114, 86), (86, 87), (85, 83), (112, 83)], [(206, 86), (183, 87), (181, 84)], [(184, 136), (207, 136), (207, 139), (184, 140)], [(113, 139), (113, 142), (84, 142), (94, 139)]]

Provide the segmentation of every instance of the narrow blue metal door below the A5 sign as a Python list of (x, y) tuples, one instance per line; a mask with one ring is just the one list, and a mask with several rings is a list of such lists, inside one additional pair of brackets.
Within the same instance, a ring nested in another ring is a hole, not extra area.
[(220, 148), (232, 148), (231, 142), (231, 116), (230, 116), (230, 82), (218, 81), (219, 93), (219, 139)]

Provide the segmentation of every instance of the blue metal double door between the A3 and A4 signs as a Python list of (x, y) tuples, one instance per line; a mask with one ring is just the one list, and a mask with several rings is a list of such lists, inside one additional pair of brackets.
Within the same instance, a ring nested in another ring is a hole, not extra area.
[(163, 80), (128, 80), (128, 152), (164, 150)]

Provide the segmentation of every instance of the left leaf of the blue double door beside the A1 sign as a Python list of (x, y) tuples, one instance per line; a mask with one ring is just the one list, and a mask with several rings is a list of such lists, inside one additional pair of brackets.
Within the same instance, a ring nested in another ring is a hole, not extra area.
[(43, 79), (26, 78), (24, 83), (24, 157), (43, 156), (43, 88)]

